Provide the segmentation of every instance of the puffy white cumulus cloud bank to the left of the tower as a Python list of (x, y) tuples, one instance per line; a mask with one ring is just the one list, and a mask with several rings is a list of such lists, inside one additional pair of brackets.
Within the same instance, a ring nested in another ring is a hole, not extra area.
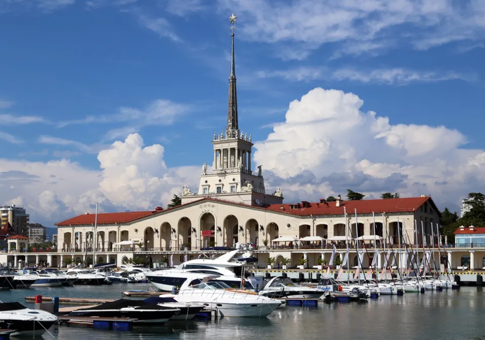
[(168, 168), (163, 155), (163, 146), (144, 146), (140, 135), (131, 134), (99, 152), (100, 169), (67, 159), (0, 159), (0, 201), (24, 206), (31, 220), (51, 226), (92, 211), (95, 202), (101, 211), (163, 206), (182, 185), (196, 187), (200, 173), (199, 166)]

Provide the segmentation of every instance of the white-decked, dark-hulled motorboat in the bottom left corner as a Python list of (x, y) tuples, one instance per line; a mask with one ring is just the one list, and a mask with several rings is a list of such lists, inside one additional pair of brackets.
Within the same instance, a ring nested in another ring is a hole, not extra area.
[(3, 329), (15, 329), (11, 335), (42, 335), (57, 320), (54, 314), (27, 308), (18, 302), (0, 303), (0, 325)]

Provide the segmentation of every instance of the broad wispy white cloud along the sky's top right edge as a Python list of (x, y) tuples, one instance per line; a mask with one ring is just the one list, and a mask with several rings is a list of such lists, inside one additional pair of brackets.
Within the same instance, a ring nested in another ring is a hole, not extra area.
[[(375, 53), (398, 44), (428, 49), (453, 41), (476, 41), (485, 35), (485, 3), (476, 0), (220, 0), (219, 7), (239, 15), (245, 39), (278, 42), (282, 50), (295, 42), (308, 49), (344, 42), (334, 57)], [(398, 42), (391, 38), (397, 27), (401, 30)], [(295, 56), (301, 58), (301, 54)]]

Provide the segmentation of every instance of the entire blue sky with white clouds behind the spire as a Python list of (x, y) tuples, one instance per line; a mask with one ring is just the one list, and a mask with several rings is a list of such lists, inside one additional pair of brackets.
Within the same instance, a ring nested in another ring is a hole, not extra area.
[[(232, 12), (239, 126), (286, 201), (348, 183), (456, 209), (483, 188), (480, 1), (0, 0), (2, 201), (52, 223), (95, 200), (147, 209), (197, 187), (226, 122)], [(300, 118), (315, 129), (300, 131)], [(312, 124), (323, 118), (368, 124)], [(138, 155), (154, 144), (156, 157)]]

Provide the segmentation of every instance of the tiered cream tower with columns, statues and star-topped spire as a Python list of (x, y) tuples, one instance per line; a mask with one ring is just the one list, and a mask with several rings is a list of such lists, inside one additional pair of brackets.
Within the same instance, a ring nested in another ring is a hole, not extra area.
[(239, 130), (234, 60), (236, 16), (232, 14), (229, 20), (231, 24), (231, 72), (227, 126), (220, 134), (214, 133), (212, 139), (214, 147), (212, 172), (208, 172), (207, 163), (204, 163), (198, 192), (192, 193), (185, 187), (182, 192), (182, 203), (202, 197), (214, 197), (258, 206), (282, 203), (283, 196), (280, 191), (266, 192), (261, 166), (253, 173), (252, 136)]

